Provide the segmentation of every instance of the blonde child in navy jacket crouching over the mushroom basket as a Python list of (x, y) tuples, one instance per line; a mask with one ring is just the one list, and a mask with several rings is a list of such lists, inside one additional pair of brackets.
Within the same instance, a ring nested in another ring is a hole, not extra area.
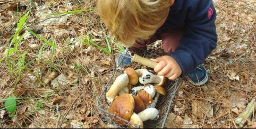
[(201, 64), (217, 45), (212, 1), (97, 0), (97, 10), (107, 29), (133, 53), (163, 41), (166, 56), (151, 59), (158, 62), (154, 70), (160, 76), (187, 76), (197, 86), (207, 82), (208, 72)]

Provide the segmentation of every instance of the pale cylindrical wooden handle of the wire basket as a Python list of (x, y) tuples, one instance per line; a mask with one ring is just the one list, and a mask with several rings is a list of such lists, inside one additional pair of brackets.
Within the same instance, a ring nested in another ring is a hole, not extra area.
[(149, 68), (155, 68), (158, 64), (157, 62), (141, 57), (138, 54), (134, 54), (134, 56), (132, 57), (132, 61), (141, 63), (142, 65), (147, 66)]

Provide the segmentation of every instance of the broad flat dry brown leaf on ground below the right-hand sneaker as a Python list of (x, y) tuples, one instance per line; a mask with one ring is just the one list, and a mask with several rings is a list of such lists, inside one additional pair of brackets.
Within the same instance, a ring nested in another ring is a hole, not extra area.
[(198, 118), (204, 118), (204, 114), (208, 117), (212, 117), (214, 114), (214, 109), (212, 106), (206, 102), (201, 102), (199, 100), (192, 100), (192, 112)]

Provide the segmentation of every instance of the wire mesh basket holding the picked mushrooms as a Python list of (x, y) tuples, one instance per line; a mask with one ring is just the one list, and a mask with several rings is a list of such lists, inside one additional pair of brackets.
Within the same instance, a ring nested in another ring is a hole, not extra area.
[[(126, 53), (129, 53), (129, 50), (126, 49)], [(157, 54), (153, 54), (145, 50), (143, 50), (143, 53), (141, 53), (140, 55), (148, 59), (160, 57)], [(117, 56), (117, 54), (114, 54), (114, 60), (115, 60), (115, 56)], [(122, 66), (122, 62), (120, 64), (121, 64), (120, 66), (115, 65), (115, 68), (112, 71), (109, 81), (104, 86), (100, 96), (98, 97), (97, 106), (101, 114), (103, 115), (104, 120), (115, 125), (116, 128), (129, 128), (129, 127), (141, 128), (139, 125), (134, 125), (121, 117), (118, 117), (118, 116), (115, 116), (114, 114), (109, 113), (110, 104), (107, 103), (106, 92), (110, 88), (111, 84), (113, 84), (115, 78), (123, 73), (122, 68), (124, 67)], [(155, 72), (153, 72), (152, 68), (145, 67), (140, 63), (132, 62), (131, 65), (129, 65), (129, 67), (132, 67), (134, 69), (146, 68), (150, 70), (152, 73), (154, 73), (155, 75), (157, 75)], [(166, 89), (166, 95), (165, 96), (160, 95), (157, 105), (155, 107), (156, 109), (158, 109), (159, 118), (156, 121), (149, 120), (149, 121), (143, 122), (144, 128), (164, 128), (166, 119), (169, 114), (170, 107), (172, 107), (173, 99), (177, 93), (178, 88), (180, 87), (180, 84), (181, 84), (181, 79), (176, 79), (175, 81), (170, 81), (167, 79), (167, 82), (164, 86)], [(140, 86), (140, 85), (142, 86), (142, 84), (139, 84), (138, 82), (138, 85), (136, 86)], [(114, 122), (114, 119), (115, 119), (115, 122)], [(120, 121), (125, 124), (121, 125), (116, 123), (116, 121)]]

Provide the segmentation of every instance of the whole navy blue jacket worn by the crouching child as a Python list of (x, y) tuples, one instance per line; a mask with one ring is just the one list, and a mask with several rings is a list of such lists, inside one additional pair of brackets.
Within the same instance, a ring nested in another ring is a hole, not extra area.
[(210, 0), (176, 0), (166, 22), (157, 31), (184, 28), (175, 52), (169, 53), (181, 66), (182, 75), (204, 62), (217, 45), (216, 11)]

